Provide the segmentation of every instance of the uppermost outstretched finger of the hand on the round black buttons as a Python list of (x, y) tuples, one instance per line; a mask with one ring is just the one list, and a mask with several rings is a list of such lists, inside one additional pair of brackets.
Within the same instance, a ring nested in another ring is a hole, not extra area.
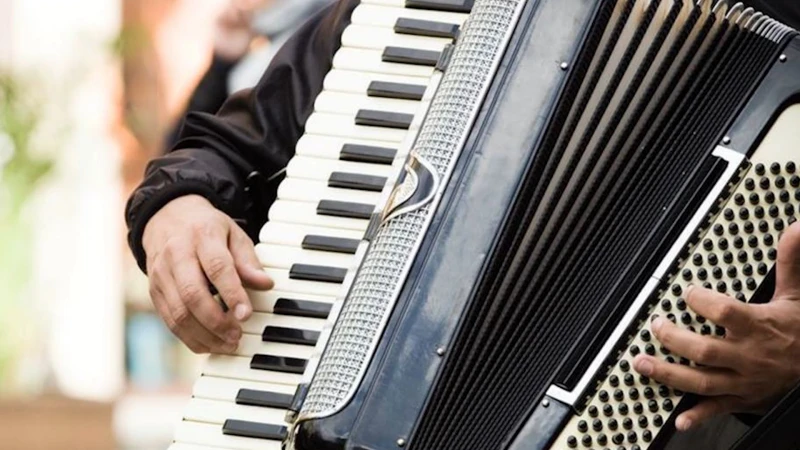
[(733, 297), (697, 286), (686, 291), (686, 303), (697, 314), (738, 334), (752, 327), (752, 308)]

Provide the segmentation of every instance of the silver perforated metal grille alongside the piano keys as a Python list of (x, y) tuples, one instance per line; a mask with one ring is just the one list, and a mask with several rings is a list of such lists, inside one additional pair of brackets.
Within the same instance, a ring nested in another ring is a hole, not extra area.
[[(494, 62), (502, 56), (519, 4), (478, 0), (459, 37), (414, 147), (443, 179), (491, 81)], [(392, 219), (378, 231), (331, 333), (301, 416), (334, 413), (358, 386), (431, 213), (426, 206)]]

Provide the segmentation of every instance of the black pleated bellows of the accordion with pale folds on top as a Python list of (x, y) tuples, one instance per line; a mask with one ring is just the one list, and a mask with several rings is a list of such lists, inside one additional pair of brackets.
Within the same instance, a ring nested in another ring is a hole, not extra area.
[(723, 169), (711, 152), (774, 43), (643, 4), (599, 9), (414, 449), (501, 448), (551, 383), (574, 385)]

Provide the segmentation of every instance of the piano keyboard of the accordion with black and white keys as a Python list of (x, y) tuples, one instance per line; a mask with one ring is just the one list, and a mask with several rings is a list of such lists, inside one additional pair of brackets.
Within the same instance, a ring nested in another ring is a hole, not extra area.
[(281, 448), (287, 409), (356, 266), (369, 214), (407, 155), (408, 122), (425, 112), (434, 67), (423, 60), (468, 15), (428, 3), (364, 0), (353, 12), (256, 246), (275, 288), (250, 292), (254, 314), (239, 348), (205, 362), (170, 450)]

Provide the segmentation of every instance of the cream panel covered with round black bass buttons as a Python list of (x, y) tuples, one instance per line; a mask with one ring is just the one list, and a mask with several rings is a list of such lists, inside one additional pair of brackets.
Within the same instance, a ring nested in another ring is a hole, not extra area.
[[(654, 298), (616, 363), (597, 381), (580, 415), (573, 417), (553, 449), (613, 447), (647, 450), (677, 416), (683, 393), (637, 374), (638, 354), (694, 367), (661, 346), (650, 325), (666, 317), (681, 328), (724, 338), (725, 330), (698, 317), (683, 298), (691, 284), (749, 302), (777, 258), (778, 240), (798, 219), (800, 160), (792, 152), (800, 105), (785, 110), (750, 159), (738, 185), (720, 202), (718, 214), (698, 233), (685, 260), (671, 271), (667, 287)], [(592, 383), (591, 385), (595, 385)]]

